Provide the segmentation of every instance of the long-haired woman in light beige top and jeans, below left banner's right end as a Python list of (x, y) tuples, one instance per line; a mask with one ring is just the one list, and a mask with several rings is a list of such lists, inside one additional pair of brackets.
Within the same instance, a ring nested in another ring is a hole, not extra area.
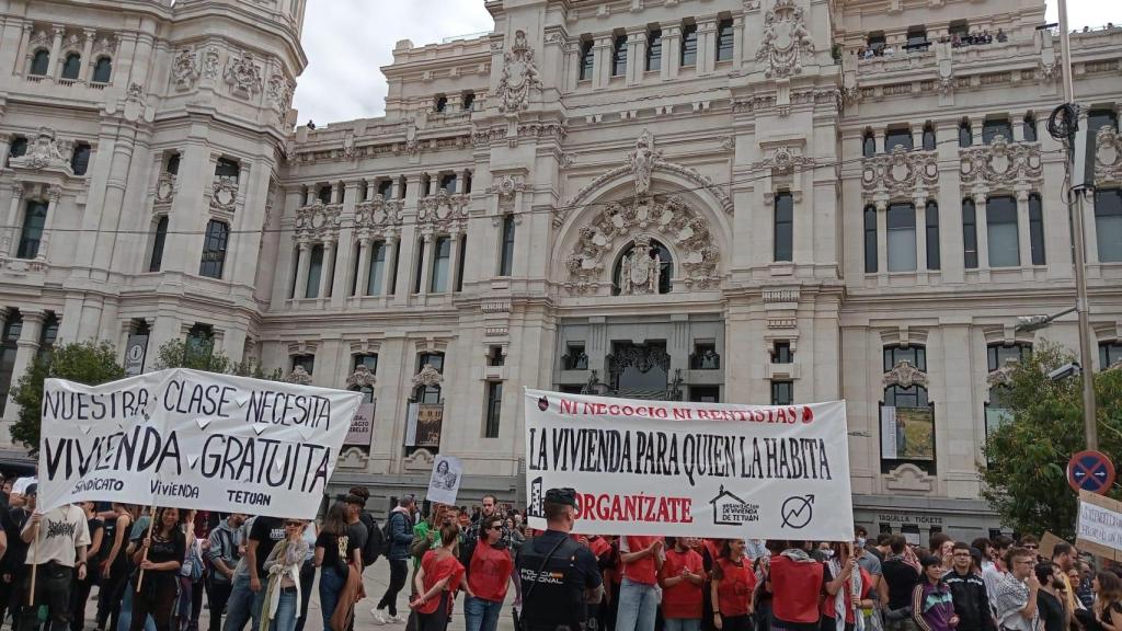
[[(265, 603), (261, 605), (261, 627), (251, 631), (293, 631), (300, 618), (300, 567), (307, 554), (304, 541), (305, 523), (285, 520), (285, 538), (273, 547), (265, 559)], [(359, 559), (361, 564), (361, 558)], [(359, 566), (361, 567), (361, 566)], [(361, 571), (361, 570), (360, 570)]]

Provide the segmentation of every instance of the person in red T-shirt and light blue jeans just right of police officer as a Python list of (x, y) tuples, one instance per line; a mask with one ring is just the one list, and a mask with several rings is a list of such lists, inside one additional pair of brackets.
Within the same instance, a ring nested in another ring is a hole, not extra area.
[(661, 537), (633, 534), (619, 538), (624, 579), (619, 583), (615, 631), (654, 631), (664, 545)]

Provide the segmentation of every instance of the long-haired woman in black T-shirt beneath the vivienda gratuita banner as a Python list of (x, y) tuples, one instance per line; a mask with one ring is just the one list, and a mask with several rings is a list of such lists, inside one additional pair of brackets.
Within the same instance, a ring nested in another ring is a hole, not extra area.
[(156, 511), (151, 534), (142, 536), (132, 552), (132, 563), (144, 570), (137, 575), (139, 589), (132, 595), (130, 631), (141, 631), (150, 614), (156, 631), (172, 629), (180, 568), (187, 552), (187, 539), (180, 529), (180, 510)]

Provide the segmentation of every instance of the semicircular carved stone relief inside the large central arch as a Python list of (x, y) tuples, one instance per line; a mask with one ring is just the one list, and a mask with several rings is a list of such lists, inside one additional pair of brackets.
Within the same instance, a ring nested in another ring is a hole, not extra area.
[[(611, 255), (622, 249), (617, 244), (635, 232), (650, 235), (645, 237), (649, 239), (653, 236), (677, 253), (675, 268), (687, 287), (716, 285), (720, 249), (712, 240), (708, 221), (677, 195), (653, 195), (610, 203), (590, 225), (580, 228), (577, 244), (564, 260), (568, 291), (582, 294), (610, 287)], [(636, 276), (632, 277), (634, 282)]]

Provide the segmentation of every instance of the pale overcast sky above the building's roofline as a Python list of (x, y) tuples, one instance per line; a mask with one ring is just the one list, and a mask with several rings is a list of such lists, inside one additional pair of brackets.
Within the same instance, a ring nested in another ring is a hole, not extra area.
[[(1072, 28), (1122, 24), (1118, 0), (1068, 0)], [(1048, 20), (1056, 21), (1055, 2)], [(394, 44), (415, 46), (494, 27), (484, 0), (309, 0), (304, 18), (307, 68), (297, 80), (300, 122), (318, 125), (381, 116)]]

